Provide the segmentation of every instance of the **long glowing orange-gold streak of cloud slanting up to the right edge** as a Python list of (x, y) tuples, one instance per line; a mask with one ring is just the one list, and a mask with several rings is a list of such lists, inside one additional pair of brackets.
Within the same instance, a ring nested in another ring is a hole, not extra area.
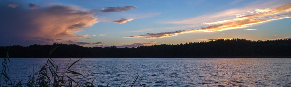
[[(260, 11), (263, 13), (258, 14), (250, 14), (242, 17), (238, 17), (235, 19), (231, 19), (230, 21), (222, 21), (219, 25), (207, 26), (200, 29), (192, 29), (192, 30), (177, 30), (172, 32), (161, 32), (161, 33), (146, 33), (143, 35), (137, 36), (129, 36), (124, 38), (139, 38), (145, 37), (146, 39), (155, 39), (155, 38), (163, 38), (163, 37), (173, 37), (184, 33), (190, 32), (215, 32), (222, 30), (230, 30), (230, 29), (239, 29), (239, 28), (247, 28), (254, 24), (264, 23), (272, 20), (279, 20), (290, 18), (291, 14), (284, 14), (285, 12), (291, 11), (291, 3), (285, 4), (283, 6), (268, 9), (269, 11)], [(275, 15), (280, 14), (280, 15)], [(218, 14), (221, 15), (221, 14)], [(273, 16), (275, 15), (275, 16)], [(214, 22), (213, 22), (214, 23)]]

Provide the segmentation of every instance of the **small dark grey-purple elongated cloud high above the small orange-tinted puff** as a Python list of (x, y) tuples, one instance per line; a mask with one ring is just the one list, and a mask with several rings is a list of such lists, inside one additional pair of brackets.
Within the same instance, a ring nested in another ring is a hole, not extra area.
[(134, 6), (118, 6), (118, 7), (106, 7), (102, 8), (101, 12), (121, 12), (121, 11), (128, 11), (131, 9), (136, 9), (137, 7)]

